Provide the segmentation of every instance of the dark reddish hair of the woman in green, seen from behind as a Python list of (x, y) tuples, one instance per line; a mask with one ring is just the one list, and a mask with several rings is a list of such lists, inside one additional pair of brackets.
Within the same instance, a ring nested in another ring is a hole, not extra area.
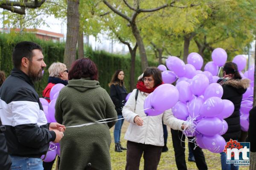
[(81, 79), (90, 77), (98, 80), (98, 69), (94, 62), (88, 58), (77, 59), (68, 71), (68, 79)]

